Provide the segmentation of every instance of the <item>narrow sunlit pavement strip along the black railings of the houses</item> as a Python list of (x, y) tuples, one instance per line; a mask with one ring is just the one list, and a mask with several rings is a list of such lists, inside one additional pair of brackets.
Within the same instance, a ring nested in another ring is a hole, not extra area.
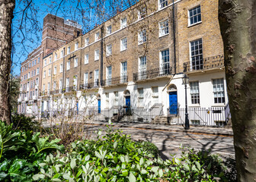
[[(86, 124), (94, 124), (105, 126), (108, 122), (104, 121), (86, 121)], [(145, 130), (165, 130), (171, 132), (181, 132), (181, 133), (199, 133), (199, 134), (208, 134), (216, 135), (222, 137), (233, 137), (233, 130), (223, 127), (197, 127), (190, 126), (189, 130), (185, 130), (181, 125), (160, 125), (160, 124), (145, 124), (145, 123), (112, 123), (114, 127), (132, 127), (136, 129), (145, 129)]]

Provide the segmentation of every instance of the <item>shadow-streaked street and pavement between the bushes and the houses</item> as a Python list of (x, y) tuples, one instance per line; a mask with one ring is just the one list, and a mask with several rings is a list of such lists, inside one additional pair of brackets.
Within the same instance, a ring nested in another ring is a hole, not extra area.
[[(88, 121), (88, 130), (104, 130), (107, 122)], [(181, 155), (181, 145), (197, 150), (208, 150), (223, 158), (235, 157), (233, 133), (231, 129), (221, 127), (184, 127), (177, 125), (154, 125), (139, 123), (114, 123), (113, 127), (130, 134), (133, 140), (147, 140), (158, 146), (162, 158), (171, 158), (170, 154)], [(94, 132), (91, 132), (94, 133)], [(95, 136), (92, 136), (95, 137)]]

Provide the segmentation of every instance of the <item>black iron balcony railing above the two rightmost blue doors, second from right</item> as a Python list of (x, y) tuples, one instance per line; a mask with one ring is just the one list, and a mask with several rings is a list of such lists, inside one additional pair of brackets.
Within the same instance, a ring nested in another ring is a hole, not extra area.
[(155, 77), (163, 77), (165, 75), (170, 74), (172, 74), (170, 65), (162, 64), (162, 67), (156, 67), (152, 70), (139, 71), (137, 73), (134, 73), (133, 81), (152, 79)]

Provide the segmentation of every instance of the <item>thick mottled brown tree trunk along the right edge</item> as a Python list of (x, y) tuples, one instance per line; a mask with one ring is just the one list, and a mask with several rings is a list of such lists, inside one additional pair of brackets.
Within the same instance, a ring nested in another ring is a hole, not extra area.
[(238, 181), (256, 181), (256, 0), (219, 0)]

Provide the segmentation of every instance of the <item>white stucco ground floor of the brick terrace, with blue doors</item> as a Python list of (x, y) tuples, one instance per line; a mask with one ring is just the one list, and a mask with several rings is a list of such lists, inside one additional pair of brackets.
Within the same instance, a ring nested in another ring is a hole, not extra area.
[(183, 83), (184, 74), (175, 74), (43, 96), (40, 112), (48, 116), (97, 116), (99, 120), (115, 118), (119, 121), (152, 122), (157, 117), (165, 117), (170, 122), (183, 124), (186, 85), (190, 124), (224, 124), (229, 118), (224, 71), (187, 76), (187, 84)]

